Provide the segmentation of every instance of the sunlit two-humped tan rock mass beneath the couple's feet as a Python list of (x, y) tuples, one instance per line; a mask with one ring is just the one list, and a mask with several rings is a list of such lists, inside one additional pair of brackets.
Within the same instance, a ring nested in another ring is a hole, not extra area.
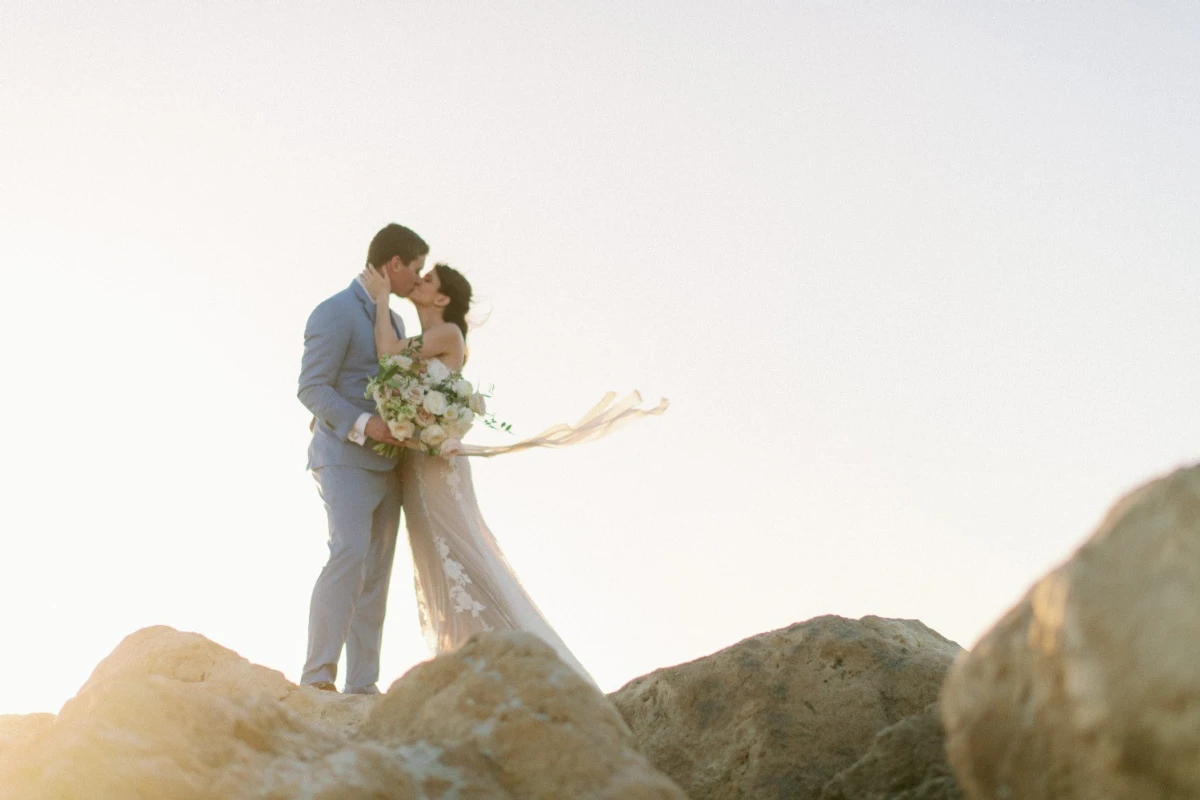
[(298, 688), (161, 627), (126, 638), (53, 724), (0, 752), (4, 800), (136, 796), (686, 800), (529, 634), (478, 637), (370, 698)]

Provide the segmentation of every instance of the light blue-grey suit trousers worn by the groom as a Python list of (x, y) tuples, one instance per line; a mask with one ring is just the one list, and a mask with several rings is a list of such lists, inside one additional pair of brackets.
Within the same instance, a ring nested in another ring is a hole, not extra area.
[(329, 561), (308, 607), (302, 684), (332, 682), (346, 646), (346, 691), (379, 680), (379, 646), (400, 529), (400, 471), (358, 467), (313, 470), (329, 516)]

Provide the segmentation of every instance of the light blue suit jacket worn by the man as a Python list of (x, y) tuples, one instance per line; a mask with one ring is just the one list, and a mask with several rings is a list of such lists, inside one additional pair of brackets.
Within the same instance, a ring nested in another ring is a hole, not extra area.
[[(364, 397), (367, 381), (379, 369), (374, 347), (374, 302), (358, 281), (313, 309), (304, 331), (304, 359), (296, 396), (317, 417), (308, 445), (308, 469), (359, 467), (388, 470), (396, 458), (384, 458), (372, 439), (359, 445), (347, 437), (364, 413), (376, 413)], [(404, 323), (394, 312), (392, 327), (404, 338)]]

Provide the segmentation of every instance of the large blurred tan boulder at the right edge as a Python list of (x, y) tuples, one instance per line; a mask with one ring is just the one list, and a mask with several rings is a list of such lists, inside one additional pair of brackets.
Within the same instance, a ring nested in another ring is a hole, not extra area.
[(968, 798), (1200, 798), (1200, 467), (1121, 500), (955, 664)]

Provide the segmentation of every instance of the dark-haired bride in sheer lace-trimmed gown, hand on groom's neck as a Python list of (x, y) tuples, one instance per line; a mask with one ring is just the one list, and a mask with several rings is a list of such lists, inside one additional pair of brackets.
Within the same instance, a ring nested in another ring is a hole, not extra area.
[[(408, 300), (416, 307), (421, 335), (401, 339), (390, 324), (389, 282), (374, 267), (360, 276), (376, 302), (379, 357), (420, 343), (420, 356), (460, 372), (467, 360), (467, 312), (470, 283), (457, 270), (437, 264), (418, 282)], [(475, 500), (468, 458), (451, 441), (443, 456), (409, 447), (401, 459), (408, 541), (413, 551), (416, 606), (421, 631), (436, 654), (457, 649), (482, 631), (527, 631), (595, 685), (566, 644), (521, 587), (512, 567), (484, 522)]]

